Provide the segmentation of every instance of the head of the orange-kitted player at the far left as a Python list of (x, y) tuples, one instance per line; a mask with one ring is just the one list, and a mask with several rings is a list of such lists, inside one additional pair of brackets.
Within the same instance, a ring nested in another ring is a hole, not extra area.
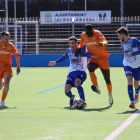
[(10, 39), (10, 34), (7, 31), (1, 32), (1, 42), (3, 45), (7, 45)]

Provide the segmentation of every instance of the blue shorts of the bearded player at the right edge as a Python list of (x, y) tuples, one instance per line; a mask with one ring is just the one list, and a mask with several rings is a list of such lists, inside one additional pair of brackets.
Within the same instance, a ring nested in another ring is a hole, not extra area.
[(140, 80), (140, 67), (131, 68), (129, 66), (124, 66), (124, 71), (126, 76), (131, 75), (136, 81)]

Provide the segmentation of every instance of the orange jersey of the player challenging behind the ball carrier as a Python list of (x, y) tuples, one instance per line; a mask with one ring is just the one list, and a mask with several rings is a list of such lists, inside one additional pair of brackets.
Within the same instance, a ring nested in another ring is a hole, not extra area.
[[(104, 45), (102, 47), (97, 46), (99, 42), (103, 42)], [(84, 45), (86, 45), (86, 49), (89, 53), (98, 57), (97, 59), (110, 56), (105, 49), (105, 46), (107, 46), (107, 41), (104, 35), (98, 30), (93, 30), (93, 35), (91, 38), (86, 35), (86, 32), (81, 34), (80, 48), (82, 48)]]

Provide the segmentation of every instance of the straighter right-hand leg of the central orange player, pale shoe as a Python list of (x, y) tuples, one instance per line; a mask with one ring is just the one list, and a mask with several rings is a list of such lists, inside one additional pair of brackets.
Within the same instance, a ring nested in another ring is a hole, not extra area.
[(110, 69), (101, 69), (101, 72), (106, 82), (106, 86), (108, 90), (108, 97), (109, 97), (109, 104), (113, 105), (112, 83), (110, 81)]

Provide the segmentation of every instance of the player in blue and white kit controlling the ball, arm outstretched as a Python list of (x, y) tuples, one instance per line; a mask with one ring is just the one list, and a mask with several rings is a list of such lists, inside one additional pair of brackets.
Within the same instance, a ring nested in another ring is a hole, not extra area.
[(49, 66), (54, 66), (67, 58), (70, 59), (69, 74), (67, 76), (67, 80), (65, 83), (65, 94), (70, 98), (70, 106), (73, 106), (73, 100), (75, 95), (72, 94), (71, 89), (72, 87), (76, 87), (80, 98), (84, 101), (84, 107), (86, 107), (87, 105), (85, 102), (84, 90), (81, 85), (87, 78), (85, 72), (87, 68), (87, 57), (96, 58), (96, 56), (93, 56), (88, 52), (86, 53), (85, 48), (82, 48), (81, 55), (76, 57), (75, 52), (78, 46), (77, 46), (77, 38), (75, 36), (71, 36), (69, 38), (69, 45), (70, 48), (67, 49), (66, 53), (58, 60), (50, 61)]

